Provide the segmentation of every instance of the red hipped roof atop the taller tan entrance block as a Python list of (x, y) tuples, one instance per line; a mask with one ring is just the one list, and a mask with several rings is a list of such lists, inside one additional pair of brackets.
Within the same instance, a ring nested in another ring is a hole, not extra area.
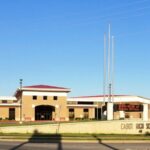
[(38, 88), (38, 89), (67, 89), (64, 87), (50, 86), (50, 85), (31, 85), (24, 86), (23, 88)]

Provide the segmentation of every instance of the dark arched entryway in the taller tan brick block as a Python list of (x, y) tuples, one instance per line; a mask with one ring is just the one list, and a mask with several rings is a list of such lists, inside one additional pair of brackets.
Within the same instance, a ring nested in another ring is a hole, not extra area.
[(54, 106), (39, 105), (35, 107), (35, 120), (52, 120), (52, 112), (55, 111)]

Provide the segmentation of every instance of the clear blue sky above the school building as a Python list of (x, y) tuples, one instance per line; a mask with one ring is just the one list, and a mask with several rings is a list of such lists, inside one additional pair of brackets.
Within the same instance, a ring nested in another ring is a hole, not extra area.
[(150, 0), (0, 1), (0, 95), (23, 85), (103, 94), (104, 33), (115, 38), (114, 93), (150, 98)]

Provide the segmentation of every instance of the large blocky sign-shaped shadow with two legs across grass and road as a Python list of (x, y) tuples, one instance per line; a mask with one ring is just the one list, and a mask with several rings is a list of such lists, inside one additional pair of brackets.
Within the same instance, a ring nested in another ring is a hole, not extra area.
[(10, 150), (19, 150), (23, 146), (25, 146), (26, 144), (29, 144), (29, 143), (52, 143), (52, 144), (57, 144), (57, 150), (63, 150), (60, 134), (54, 134), (54, 135), (40, 134), (40, 133), (38, 133), (38, 130), (34, 130), (33, 135), (28, 139), (27, 142), (23, 142), (21, 144), (18, 144), (17, 146), (11, 148)]

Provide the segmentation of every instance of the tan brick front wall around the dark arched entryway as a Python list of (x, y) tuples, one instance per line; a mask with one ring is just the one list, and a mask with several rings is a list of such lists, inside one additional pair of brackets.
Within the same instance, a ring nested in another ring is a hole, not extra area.
[[(53, 96), (48, 96), (47, 100), (43, 100), (43, 96), (37, 96), (37, 100), (33, 100), (32, 96), (22, 97), (22, 117), (23, 120), (31, 118), (35, 119), (35, 107), (39, 105), (50, 105), (55, 107), (53, 118), (68, 118), (68, 110), (66, 106), (66, 97), (58, 96), (58, 100), (54, 100)], [(58, 106), (58, 108), (56, 107)]]

